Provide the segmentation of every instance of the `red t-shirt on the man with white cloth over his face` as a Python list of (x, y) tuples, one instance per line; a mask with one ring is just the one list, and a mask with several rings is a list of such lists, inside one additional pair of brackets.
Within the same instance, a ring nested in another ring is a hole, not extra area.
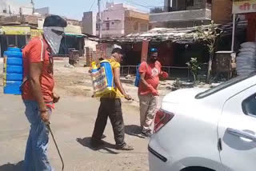
[[(41, 89), (42, 96), (46, 102), (53, 101), (52, 93), (54, 89), (54, 60), (50, 54), (50, 46), (42, 38), (32, 39), (22, 50), (23, 54), (23, 74), (29, 77), (30, 63), (42, 62)], [(22, 90), (24, 100), (34, 101), (34, 95), (30, 88), (30, 82), (25, 82)]]

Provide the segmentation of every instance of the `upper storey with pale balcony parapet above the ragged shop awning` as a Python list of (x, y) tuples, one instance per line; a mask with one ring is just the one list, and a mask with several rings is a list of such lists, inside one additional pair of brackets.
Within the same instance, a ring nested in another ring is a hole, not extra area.
[(230, 0), (165, 0), (150, 10), (150, 27), (190, 27), (231, 22)]

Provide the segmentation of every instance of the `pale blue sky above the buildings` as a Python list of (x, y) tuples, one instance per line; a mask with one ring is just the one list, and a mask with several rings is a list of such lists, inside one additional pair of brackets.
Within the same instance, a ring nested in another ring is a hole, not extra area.
[[(30, 2), (30, 0), (14, 0), (17, 2)], [(94, 2), (95, 1), (95, 2)], [(136, 6), (139, 10), (149, 11), (151, 6), (163, 6), (164, 0), (101, 0), (102, 9), (106, 7), (106, 2), (124, 2), (128, 5)], [(34, 0), (35, 7), (50, 7), (51, 14), (64, 15), (67, 18), (82, 20), (82, 13), (90, 10), (97, 10), (98, 0)]]

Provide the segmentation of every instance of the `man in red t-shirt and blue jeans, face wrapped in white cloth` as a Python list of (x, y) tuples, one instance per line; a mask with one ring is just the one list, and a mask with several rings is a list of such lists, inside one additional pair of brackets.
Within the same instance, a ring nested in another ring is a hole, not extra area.
[(22, 50), (22, 100), (30, 122), (24, 161), (26, 171), (53, 170), (47, 157), (49, 130), (46, 123), (50, 120), (53, 104), (59, 100), (54, 93), (53, 54), (58, 54), (66, 25), (66, 20), (57, 15), (46, 17), (43, 38), (32, 39)]

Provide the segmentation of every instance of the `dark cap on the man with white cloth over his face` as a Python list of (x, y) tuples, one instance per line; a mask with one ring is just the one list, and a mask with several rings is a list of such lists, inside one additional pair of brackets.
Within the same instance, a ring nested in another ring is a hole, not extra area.
[(58, 15), (50, 15), (46, 17), (45, 22), (43, 23), (43, 27), (48, 26), (66, 27), (67, 22), (64, 18)]

